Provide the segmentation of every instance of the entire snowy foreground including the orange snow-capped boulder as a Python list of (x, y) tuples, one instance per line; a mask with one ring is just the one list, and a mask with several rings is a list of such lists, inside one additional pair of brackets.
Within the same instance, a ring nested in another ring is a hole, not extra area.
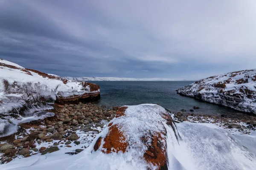
[(125, 106), (118, 112), (91, 145), (75, 156), (57, 151), (16, 159), (0, 165), (0, 169), (255, 169), (255, 136), (233, 136), (206, 123), (183, 122), (176, 124), (176, 129), (174, 123), (170, 124), (169, 113), (159, 105)]

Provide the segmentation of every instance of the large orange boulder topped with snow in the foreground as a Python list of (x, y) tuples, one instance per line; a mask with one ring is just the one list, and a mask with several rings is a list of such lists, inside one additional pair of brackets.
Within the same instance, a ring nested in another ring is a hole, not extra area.
[(180, 138), (172, 117), (161, 106), (123, 106), (97, 139), (93, 152), (122, 153), (124, 159), (132, 155), (134, 161), (144, 162), (146, 169), (167, 170), (167, 128)]

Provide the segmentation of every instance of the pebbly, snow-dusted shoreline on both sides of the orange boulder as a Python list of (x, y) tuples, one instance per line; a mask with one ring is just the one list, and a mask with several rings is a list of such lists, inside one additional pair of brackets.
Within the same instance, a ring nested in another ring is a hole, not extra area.
[[(55, 116), (21, 124), (17, 133), (0, 138), (0, 147), (9, 145), (0, 153), (1, 164), (55, 151), (61, 154), (78, 154), (107, 126), (119, 108), (106, 108), (96, 102), (56, 104), (53, 107)], [(246, 113), (233, 118), (184, 112), (170, 114), (175, 123), (212, 123), (232, 134), (250, 134), (256, 130), (256, 115), (249, 116)]]

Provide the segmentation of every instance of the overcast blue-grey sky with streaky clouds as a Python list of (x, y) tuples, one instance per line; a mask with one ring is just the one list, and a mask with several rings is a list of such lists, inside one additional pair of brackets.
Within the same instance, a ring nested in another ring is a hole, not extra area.
[(0, 58), (70, 77), (256, 68), (256, 0), (0, 0)]

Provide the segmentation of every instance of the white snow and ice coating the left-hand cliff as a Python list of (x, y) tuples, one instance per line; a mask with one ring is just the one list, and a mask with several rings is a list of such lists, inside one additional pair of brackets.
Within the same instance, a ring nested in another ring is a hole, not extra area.
[[(69, 98), (99, 93), (99, 89), (90, 91), (89, 85), (84, 88), (81, 82), (68, 81), (64, 84), (56, 75), (51, 74), (56, 79), (50, 79), (4, 59), (0, 59), (0, 63), (17, 67), (0, 66), (0, 114), (6, 116), (14, 111), (19, 113), (17, 121), (9, 118), (11, 122), (21, 123), (20, 119), (24, 119), (23, 122), (41, 119), (42, 116), (35, 116), (33, 113), (52, 109), (49, 105), (52, 105), (58, 97)], [(41, 102), (42, 98), (46, 103)], [(21, 108), (25, 108), (25, 111), (21, 112)]]

